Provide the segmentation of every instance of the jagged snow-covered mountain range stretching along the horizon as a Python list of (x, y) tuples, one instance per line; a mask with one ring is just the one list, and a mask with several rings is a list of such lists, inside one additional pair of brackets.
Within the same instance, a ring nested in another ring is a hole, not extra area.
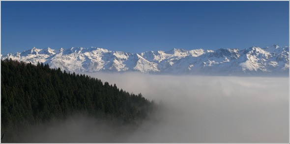
[(1, 59), (48, 63), (70, 72), (127, 72), (167, 74), (284, 74), (289, 73), (289, 47), (217, 50), (174, 48), (170, 51), (130, 53), (104, 48), (32, 48)]

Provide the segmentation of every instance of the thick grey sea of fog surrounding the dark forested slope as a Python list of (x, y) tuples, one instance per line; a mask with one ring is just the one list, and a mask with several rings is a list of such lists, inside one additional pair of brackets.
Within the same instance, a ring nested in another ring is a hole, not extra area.
[(114, 120), (104, 121), (103, 117), (78, 113), (32, 126), (31, 133), (18, 135), (23, 142), (289, 141), (289, 77), (174, 76), (136, 72), (85, 74), (107, 81), (109, 86), (116, 83), (129, 94), (142, 93), (160, 108), (151, 113), (150, 119), (137, 121), (138, 126), (116, 126)]

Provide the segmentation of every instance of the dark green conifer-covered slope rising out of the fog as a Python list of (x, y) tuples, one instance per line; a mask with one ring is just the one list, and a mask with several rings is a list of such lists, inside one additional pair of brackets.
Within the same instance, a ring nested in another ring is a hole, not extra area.
[(137, 127), (150, 119), (154, 109), (154, 102), (142, 94), (129, 94), (85, 74), (50, 69), (48, 64), (1, 60), (2, 142), (21, 142), (19, 134), (29, 133), (32, 126), (77, 113), (116, 126)]

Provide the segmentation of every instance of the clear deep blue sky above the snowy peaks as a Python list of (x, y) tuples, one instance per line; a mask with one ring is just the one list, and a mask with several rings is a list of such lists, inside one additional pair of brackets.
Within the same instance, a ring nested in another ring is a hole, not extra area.
[(1, 1), (1, 54), (289, 45), (289, 1)]

